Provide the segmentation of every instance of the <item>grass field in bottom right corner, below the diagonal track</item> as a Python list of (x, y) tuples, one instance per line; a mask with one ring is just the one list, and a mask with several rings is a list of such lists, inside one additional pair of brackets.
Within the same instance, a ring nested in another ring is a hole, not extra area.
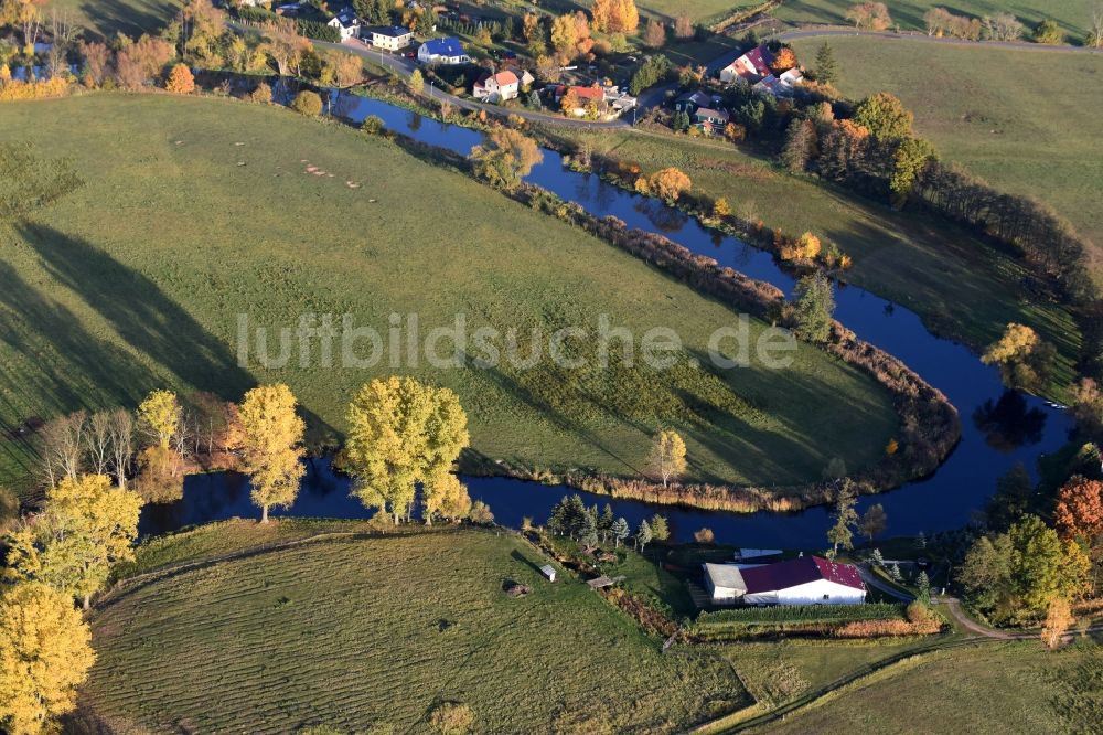
[(961, 649), (925, 657), (761, 732), (1086, 733), (1103, 714), (1101, 679), (1095, 646), (1057, 653), (1038, 641)]

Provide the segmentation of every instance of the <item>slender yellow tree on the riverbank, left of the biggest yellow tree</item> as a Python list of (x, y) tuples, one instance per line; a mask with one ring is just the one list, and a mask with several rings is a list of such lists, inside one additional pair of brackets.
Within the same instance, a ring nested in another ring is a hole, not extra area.
[(306, 424), (295, 407), (291, 388), (277, 383), (246, 393), (238, 411), (245, 472), (253, 481), (261, 523), (268, 522), (269, 508), (291, 507), (306, 472), (300, 461)]

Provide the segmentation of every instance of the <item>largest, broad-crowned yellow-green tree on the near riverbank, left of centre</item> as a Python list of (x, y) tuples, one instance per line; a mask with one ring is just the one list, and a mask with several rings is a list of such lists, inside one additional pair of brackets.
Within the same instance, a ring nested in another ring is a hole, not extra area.
[(464, 500), (462, 483), (449, 479), (449, 470), (469, 439), (468, 416), (449, 388), (413, 377), (374, 380), (349, 406), (345, 456), (356, 480), (352, 492), (398, 523), (409, 516), (420, 483), (427, 523), (435, 513), (456, 518), (470, 499)]

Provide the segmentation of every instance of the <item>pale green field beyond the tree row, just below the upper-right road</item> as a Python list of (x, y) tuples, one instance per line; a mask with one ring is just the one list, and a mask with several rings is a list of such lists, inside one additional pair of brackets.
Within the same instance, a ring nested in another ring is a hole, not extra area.
[[(793, 43), (813, 58), (821, 39)], [(839, 89), (898, 95), (940, 153), (1054, 206), (1103, 248), (1103, 55), (829, 39)], [(917, 64), (917, 55), (923, 63)], [(1095, 251), (1103, 278), (1103, 249)]]

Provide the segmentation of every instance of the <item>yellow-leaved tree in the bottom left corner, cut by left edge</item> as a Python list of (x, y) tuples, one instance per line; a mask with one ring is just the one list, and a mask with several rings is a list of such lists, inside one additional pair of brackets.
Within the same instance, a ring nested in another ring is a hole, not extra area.
[(0, 595), (0, 727), (13, 735), (47, 728), (76, 706), (76, 689), (96, 661), (92, 632), (73, 600), (23, 582)]

